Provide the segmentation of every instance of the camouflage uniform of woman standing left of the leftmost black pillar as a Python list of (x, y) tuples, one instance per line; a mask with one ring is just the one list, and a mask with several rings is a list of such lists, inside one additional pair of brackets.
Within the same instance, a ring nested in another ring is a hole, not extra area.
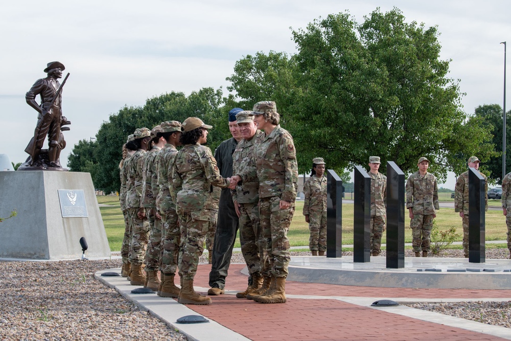
[(309, 216), (309, 248), (327, 251), (327, 177), (312, 175), (304, 184), (304, 215)]

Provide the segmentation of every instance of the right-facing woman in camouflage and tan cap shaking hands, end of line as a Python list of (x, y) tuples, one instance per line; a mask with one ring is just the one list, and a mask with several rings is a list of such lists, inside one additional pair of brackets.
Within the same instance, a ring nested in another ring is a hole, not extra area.
[(213, 127), (196, 117), (184, 120), (182, 125), (179, 141), (183, 148), (177, 153), (171, 170), (171, 195), (180, 223), (186, 230), (179, 248), (178, 266), (183, 284), (178, 302), (210, 304), (210, 298), (195, 292), (193, 279), (199, 257), (204, 251), (204, 238), (218, 212), (213, 186), (227, 188), (229, 179), (220, 175), (211, 149), (201, 145), (207, 141), (207, 129)]

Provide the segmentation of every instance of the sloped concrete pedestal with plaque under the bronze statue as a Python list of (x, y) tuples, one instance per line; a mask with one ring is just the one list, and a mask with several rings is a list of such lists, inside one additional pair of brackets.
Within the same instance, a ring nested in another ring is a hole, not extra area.
[(0, 258), (110, 257), (110, 247), (89, 173), (0, 172)]

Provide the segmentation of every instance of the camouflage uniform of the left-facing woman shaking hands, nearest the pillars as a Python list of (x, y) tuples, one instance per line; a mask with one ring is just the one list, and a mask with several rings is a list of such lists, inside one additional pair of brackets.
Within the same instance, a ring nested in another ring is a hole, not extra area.
[[(298, 187), (298, 164), (291, 134), (277, 125), (271, 133), (262, 135), (249, 167), (237, 175), (243, 183), (259, 178), (259, 216), (271, 267), (271, 274), (263, 272), (263, 276), (286, 278), (291, 260), (287, 233)], [(280, 209), (280, 200), (290, 202), (291, 206)]]

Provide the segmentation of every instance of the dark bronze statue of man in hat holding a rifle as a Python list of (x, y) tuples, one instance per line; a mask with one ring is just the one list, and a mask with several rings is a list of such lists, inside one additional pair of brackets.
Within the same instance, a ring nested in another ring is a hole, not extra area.
[[(30, 155), (27, 161), (18, 170), (66, 170), (60, 165), (60, 151), (65, 147), (62, 130), (69, 130), (63, 125), (71, 124), (62, 116), (62, 86), (67, 80), (65, 77), (62, 84), (58, 79), (62, 78), (64, 64), (58, 61), (48, 63), (44, 72), (47, 77), (38, 79), (25, 99), (28, 105), (39, 113), (34, 137), (30, 140), (25, 151)], [(37, 104), (35, 98), (41, 97), (41, 104)], [(44, 140), (48, 135), (48, 151), (42, 149)]]

